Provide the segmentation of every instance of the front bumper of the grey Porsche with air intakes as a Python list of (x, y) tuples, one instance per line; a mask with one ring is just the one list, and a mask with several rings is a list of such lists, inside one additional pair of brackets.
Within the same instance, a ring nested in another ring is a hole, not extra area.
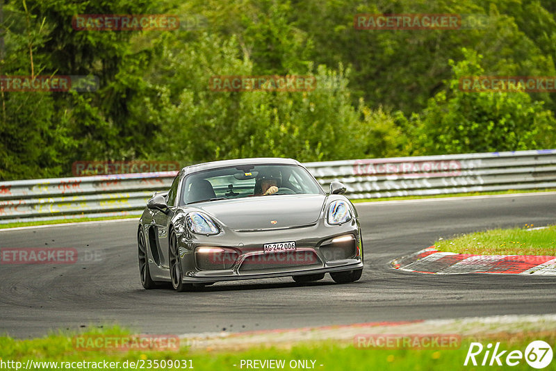
[[(338, 239), (343, 242), (334, 242)], [(224, 230), (218, 236), (183, 233), (178, 241), (184, 283), (288, 277), (363, 267), (363, 244), (355, 219), (341, 226), (320, 222), (295, 229)], [(295, 242), (297, 249), (263, 252), (264, 244), (276, 242)], [(205, 250), (211, 253), (199, 253)]]

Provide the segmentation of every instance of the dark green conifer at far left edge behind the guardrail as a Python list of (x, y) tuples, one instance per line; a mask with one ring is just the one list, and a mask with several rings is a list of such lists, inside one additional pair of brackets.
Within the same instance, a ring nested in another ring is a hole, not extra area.
[[(22, 8), (6, 6), (6, 59), (1, 75), (37, 76), (46, 69), (38, 52), (47, 37), (44, 20)], [(7, 83), (3, 85), (8, 87)], [(7, 89), (10, 90), (10, 89)], [(58, 176), (65, 154), (75, 148), (65, 116), (58, 115), (54, 92), (1, 91), (0, 180)]]

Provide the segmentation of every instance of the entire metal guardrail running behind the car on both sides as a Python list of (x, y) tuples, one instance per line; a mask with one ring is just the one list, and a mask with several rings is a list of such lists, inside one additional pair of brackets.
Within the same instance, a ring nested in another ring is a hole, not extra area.
[[(305, 163), (352, 199), (556, 188), (556, 149)], [(0, 224), (140, 215), (176, 172), (0, 182)]]

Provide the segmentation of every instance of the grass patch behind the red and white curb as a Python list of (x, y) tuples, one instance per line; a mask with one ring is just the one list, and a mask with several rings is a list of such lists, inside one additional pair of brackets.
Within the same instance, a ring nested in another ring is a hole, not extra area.
[(546, 229), (523, 228), (493, 229), (459, 236), (450, 240), (437, 240), (436, 249), (457, 254), (484, 255), (547, 255), (556, 256), (556, 225)]

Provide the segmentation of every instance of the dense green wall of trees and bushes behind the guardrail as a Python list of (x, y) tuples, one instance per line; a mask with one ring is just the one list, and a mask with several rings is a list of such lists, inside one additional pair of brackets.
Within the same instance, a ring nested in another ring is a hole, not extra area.
[[(545, 0), (14, 0), (0, 75), (97, 76), (95, 92), (0, 96), (0, 180), (75, 160), (302, 161), (556, 147), (549, 93), (459, 77), (556, 76)], [(482, 15), (463, 30), (354, 29), (358, 13)], [(174, 31), (76, 31), (80, 14), (170, 14)], [(0, 44), (1, 47), (1, 44)], [(217, 92), (215, 75), (314, 75), (307, 92)]]

